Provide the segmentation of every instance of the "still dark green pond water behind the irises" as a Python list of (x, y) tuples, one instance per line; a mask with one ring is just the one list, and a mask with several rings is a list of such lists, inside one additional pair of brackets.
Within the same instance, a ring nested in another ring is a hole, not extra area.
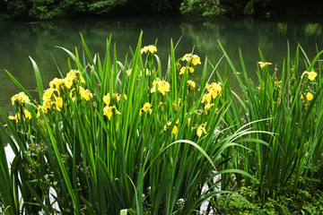
[[(118, 60), (123, 62), (129, 54), (129, 47), (135, 48), (140, 31), (144, 30), (143, 45), (153, 44), (158, 39), (157, 54), (162, 59), (163, 69), (167, 67), (170, 39), (174, 44), (180, 39), (177, 57), (190, 53), (194, 48), (194, 53), (201, 56), (202, 61), (208, 56), (215, 62), (222, 56), (219, 40), (237, 64), (241, 48), (248, 72), (252, 75), (259, 61), (258, 47), (266, 61), (279, 69), (287, 56), (287, 41), (292, 53), (300, 43), (310, 58), (315, 56), (317, 46), (323, 48), (322, 28), (323, 19), (138, 18), (0, 23), (0, 107), (10, 113), (10, 98), (20, 91), (4, 69), (13, 73), (27, 90), (36, 91), (31, 56), (39, 65), (46, 88), (48, 82), (58, 76), (57, 65), (63, 73), (67, 72), (68, 56), (56, 46), (73, 52), (77, 47), (82, 53), (80, 32), (92, 53), (99, 52), (101, 56), (111, 34), (112, 41), (117, 44)], [(223, 73), (223, 68), (219, 67), (219, 73)], [(201, 65), (199, 70), (202, 71)], [(200, 73), (195, 75), (198, 78)], [(228, 77), (233, 80), (230, 73)], [(231, 82), (234, 85), (234, 81)]]

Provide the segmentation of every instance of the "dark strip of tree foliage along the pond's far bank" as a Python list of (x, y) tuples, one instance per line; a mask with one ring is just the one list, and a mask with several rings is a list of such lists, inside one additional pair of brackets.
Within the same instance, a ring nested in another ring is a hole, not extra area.
[(80, 16), (319, 14), (319, 0), (0, 0), (0, 15), (55, 19)]

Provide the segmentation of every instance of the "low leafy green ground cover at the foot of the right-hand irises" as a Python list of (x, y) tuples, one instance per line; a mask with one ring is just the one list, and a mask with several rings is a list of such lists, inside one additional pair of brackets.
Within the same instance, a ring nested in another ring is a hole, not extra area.
[(320, 214), (323, 212), (323, 191), (317, 188), (318, 182), (307, 179), (303, 189), (293, 191), (292, 186), (275, 190), (275, 198), (263, 202), (255, 190), (256, 186), (241, 187), (239, 196), (221, 195), (211, 202), (218, 214)]

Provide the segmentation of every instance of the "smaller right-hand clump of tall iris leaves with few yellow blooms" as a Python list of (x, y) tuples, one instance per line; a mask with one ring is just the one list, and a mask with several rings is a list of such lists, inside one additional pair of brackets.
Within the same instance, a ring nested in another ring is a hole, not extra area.
[[(250, 150), (241, 147), (234, 152), (228, 150), (226, 156), (238, 155), (231, 166), (257, 176), (258, 193), (263, 199), (275, 197), (275, 190), (284, 189), (284, 186), (299, 188), (302, 178), (312, 177), (313, 169), (318, 169), (322, 162), (322, 63), (319, 56), (323, 52), (318, 52), (310, 61), (298, 46), (292, 58), (288, 46), (286, 60), (278, 72), (259, 50), (258, 80), (251, 80), (241, 52), (240, 68), (237, 69), (221, 44), (220, 47), (242, 91), (242, 96), (238, 96), (234, 90), (224, 90), (227, 92), (225, 100), (236, 101), (230, 107), (230, 120), (241, 126), (266, 118), (266, 121), (254, 124), (255, 129), (275, 133), (254, 133), (253, 138), (268, 145), (248, 144)], [(299, 70), (300, 52), (305, 59), (305, 72)], [(237, 176), (237, 180), (239, 185), (253, 184), (243, 176)]]

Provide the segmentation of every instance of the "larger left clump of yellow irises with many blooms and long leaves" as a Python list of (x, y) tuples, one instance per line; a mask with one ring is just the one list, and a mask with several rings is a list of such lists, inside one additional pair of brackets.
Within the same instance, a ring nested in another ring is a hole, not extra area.
[[(39, 101), (6, 72), (22, 93), (13, 96), (14, 116), (1, 109), (0, 129), (15, 153), (8, 168), (2, 142), (5, 211), (191, 214), (225, 193), (218, 185), (233, 173), (256, 180), (249, 169), (217, 168), (229, 163), (222, 159), (230, 150), (249, 150), (245, 142), (267, 145), (254, 136), (273, 131), (253, 129), (263, 128), (262, 118), (230, 124), (234, 102), (224, 96), (225, 81), (206, 81), (207, 59), (203, 67), (193, 54), (177, 60), (170, 41), (162, 69), (156, 46), (143, 47), (141, 40), (142, 34), (125, 63), (111, 38), (103, 58), (91, 55), (83, 37), (83, 56), (61, 47), (70, 56), (70, 72), (49, 88), (31, 59)], [(194, 70), (203, 70), (199, 87), (191, 80)]]

